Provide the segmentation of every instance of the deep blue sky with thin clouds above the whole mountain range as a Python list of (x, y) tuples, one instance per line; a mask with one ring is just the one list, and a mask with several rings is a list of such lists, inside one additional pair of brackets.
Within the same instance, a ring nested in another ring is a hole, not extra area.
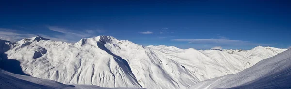
[(10, 41), (110, 35), (145, 46), (291, 46), (288, 0), (7, 1), (0, 2), (0, 39)]

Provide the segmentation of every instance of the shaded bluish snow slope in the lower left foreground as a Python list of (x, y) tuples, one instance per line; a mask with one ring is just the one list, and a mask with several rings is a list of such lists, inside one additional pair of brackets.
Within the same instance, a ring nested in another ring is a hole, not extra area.
[(138, 89), (138, 88), (102, 88), (94, 85), (65, 85), (52, 80), (12, 74), (0, 69), (0, 89)]

